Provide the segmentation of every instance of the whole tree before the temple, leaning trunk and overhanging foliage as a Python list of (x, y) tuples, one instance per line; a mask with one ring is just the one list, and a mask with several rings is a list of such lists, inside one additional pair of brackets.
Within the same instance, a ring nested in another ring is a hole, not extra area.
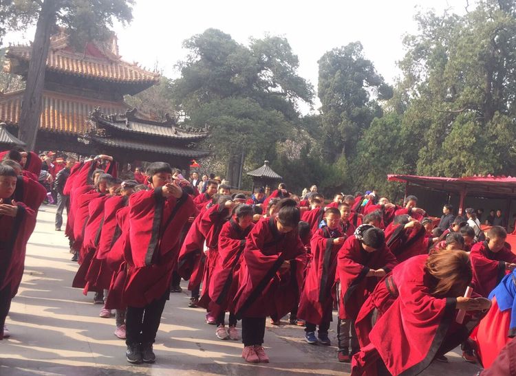
[(36, 23), (32, 54), (23, 106), (19, 137), (34, 148), (39, 128), (41, 96), (50, 36), (56, 27), (67, 29), (73, 45), (86, 41), (103, 41), (109, 36), (114, 19), (122, 23), (132, 19), (133, 0), (3, 0), (0, 8), (0, 37), (7, 30), (26, 29)]

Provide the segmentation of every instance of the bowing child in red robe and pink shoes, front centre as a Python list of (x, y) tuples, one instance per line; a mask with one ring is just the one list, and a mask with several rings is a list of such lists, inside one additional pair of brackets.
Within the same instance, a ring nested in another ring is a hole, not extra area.
[(261, 219), (248, 235), (234, 300), (246, 362), (269, 362), (262, 346), (266, 317), (283, 317), (299, 298), (306, 261), (297, 233), (300, 217), (296, 201), (281, 199), (275, 214)]

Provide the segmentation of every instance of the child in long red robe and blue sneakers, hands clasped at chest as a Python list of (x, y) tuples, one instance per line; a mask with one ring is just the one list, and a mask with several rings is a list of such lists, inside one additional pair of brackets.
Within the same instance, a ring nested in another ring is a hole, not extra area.
[[(345, 235), (340, 232), (341, 212), (338, 209), (327, 208), (324, 221), (325, 225), (315, 232), (310, 241), (312, 261), (306, 272), (297, 316), (305, 320), (306, 342), (330, 346), (328, 329), (332, 322), (332, 287), (337, 253), (345, 241)], [(315, 337), (316, 325), (319, 325), (318, 338)]]

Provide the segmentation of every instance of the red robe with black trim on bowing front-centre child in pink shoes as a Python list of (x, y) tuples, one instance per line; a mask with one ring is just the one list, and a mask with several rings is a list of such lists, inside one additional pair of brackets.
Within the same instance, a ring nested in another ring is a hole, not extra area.
[[(283, 261), (290, 261), (290, 267), (280, 269)], [(305, 264), (299, 234), (280, 234), (274, 217), (261, 219), (246, 240), (234, 299), (236, 316), (285, 316), (299, 299)]]

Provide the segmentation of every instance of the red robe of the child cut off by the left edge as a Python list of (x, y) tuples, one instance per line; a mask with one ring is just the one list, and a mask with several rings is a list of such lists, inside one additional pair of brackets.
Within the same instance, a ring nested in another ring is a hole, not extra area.
[(25, 249), (36, 226), (36, 212), (22, 202), (16, 205), (16, 217), (0, 214), (0, 290), (9, 287), (10, 298), (18, 292), (25, 267)]

